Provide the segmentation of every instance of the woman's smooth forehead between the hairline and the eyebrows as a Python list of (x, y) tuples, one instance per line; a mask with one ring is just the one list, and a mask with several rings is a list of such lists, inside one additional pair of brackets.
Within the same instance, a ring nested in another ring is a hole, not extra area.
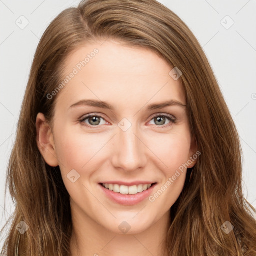
[(86, 98), (124, 106), (170, 99), (185, 104), (180, 80), (169, 75), (172, 67), (147, 48), (113, 40), (86, 44), (65, 59), (63, 70), (66, 82), (57, 98), (63, 104)]

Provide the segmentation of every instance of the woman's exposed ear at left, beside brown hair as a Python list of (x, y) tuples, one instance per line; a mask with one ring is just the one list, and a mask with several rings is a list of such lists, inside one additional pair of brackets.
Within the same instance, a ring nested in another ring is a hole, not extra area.
[(50, 166), (58, 166), (52, 130), (42, 113), (36, 116), (36, 142), (42, 157)]

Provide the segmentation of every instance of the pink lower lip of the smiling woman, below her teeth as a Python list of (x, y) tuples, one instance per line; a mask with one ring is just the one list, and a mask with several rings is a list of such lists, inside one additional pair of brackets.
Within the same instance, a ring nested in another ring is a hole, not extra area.
[(113, 200), (114, 202), (117, 202), (118, 204), (122, 205), (135, 205), (140, 203), (141, 201), (145, 200), (147, 197), (149, 197), (150, 193), (152, 192), (154, 186), (156, 183), (151, 185), (150, 188), (147, 190), (136, 193), (136, 194), (121, 194), (121, 193), (116, 193), (114, 191), (111, 191), (109, 189), (106, 189), (102, 185), (99, 184), (105, 195)]

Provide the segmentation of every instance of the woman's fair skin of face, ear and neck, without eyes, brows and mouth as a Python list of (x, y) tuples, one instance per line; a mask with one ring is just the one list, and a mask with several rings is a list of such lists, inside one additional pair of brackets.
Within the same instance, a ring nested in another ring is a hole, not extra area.
[[(107, 198), (98, 183), (151, 180), (157, 182), (154, 194), (195, 154), (185, 107), (146, 110), (170, 99), (186, 104), (184, 90), (180, 79), (169, 75), (172, 67), (154, 52), (114, 40), (102, 43), (84, 45), (66, 58), (69, 74), (83, 56), (99, 50), (58, 92), (53, 126), (38, 113), (38, 148), (47, 164), (59, 165), (70, 195), (72, 255), (167, 255), (162, 250), (170, 207), (183, 189), (186, 169), (154, 202), (146, 198), (132, 206)], [(81, 99), (106, 101), (114, 109), (69, 108)], [(103, 118), (94, 126), (89, 118), (79, 122), (89, 113)], [(176, 122), (157, 121), (156, 113), (169, 114)], [(131, 124), (126, 131), (118, 126), (123, 118)], [(67, 178), (72, 169), (80, 175), (74, 183)], [(118, 228), (123, 221), (131, 227), (125, 234)]]

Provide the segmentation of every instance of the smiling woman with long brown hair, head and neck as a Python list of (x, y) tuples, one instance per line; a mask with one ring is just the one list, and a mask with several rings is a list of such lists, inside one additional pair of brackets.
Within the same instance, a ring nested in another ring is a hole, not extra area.
[(255, 255), (237, 130), (188, 27), (154, 0), (86, 0), (37, 47), (3, 255)]

